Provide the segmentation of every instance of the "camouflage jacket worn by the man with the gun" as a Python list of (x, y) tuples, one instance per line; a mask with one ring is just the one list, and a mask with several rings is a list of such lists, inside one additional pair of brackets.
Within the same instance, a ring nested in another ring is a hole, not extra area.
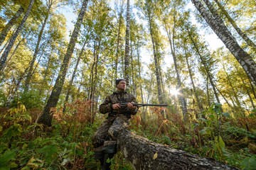
[(127, 118), (131, 118), (131, 115), (135, 115), (138, 111), (138, 107), (129, 109), (126, 107), (119, 110), (113, 110), (112, 105), (115, 103), (134, 102), (137, 103), (136, 98), (129, 94), (127, 91), (114, 91), (113, 94), (107, 96), (105, 101), (100, 105), (100, 113), (109, 113), (108, 119), (114, 118), (115, 115), (127, 115)]

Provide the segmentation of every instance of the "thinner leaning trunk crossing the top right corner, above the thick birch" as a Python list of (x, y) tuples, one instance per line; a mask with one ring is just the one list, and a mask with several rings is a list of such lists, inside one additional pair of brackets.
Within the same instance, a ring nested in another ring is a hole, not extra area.
[(233, 18), (230, 17), (230, 15), (225, 10), (225, 8), (220, 4), (220, 2), (218, 0), (214, 0), (214, 1), (218, 4), (218, 6), (219, 6), (220, 10), (222, 11), (222, 13), (225, 15), (226, 18), (228, 18), (228, 21), (232, 24), (233, 28), (235, 28), (235, 30), (241, 36), (241, 38), (243, 40), (245, 40), (247, 45), (250, 45), (250, 47), (252, 47), (252, 49), (256, 52), (256, 45), (255, 45), (255, 43), (252, 42), (252, 40), (250, 40), (250, 38), (248, 38), (248, 36), (244, 32), (242, 32), (242, 30), (238, 27), (238, 25), (235, 23)]

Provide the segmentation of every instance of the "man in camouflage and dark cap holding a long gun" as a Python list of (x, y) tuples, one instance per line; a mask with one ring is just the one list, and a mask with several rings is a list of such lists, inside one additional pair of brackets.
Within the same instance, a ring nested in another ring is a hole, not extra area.
[[(107, 164), (106, 160), (111, 159), (116, 153), (115, 140), (118, 132), (127, 128), (131, 115), (135, 115), (138, 111), (138, 107), (132, 105), (137, 103), (136, 98), (125, 91), (124, 79), (117, 79), (116, 87), (117, 91), (107, 96), (100, 105), (100, 113), (108, 113), (108, 117), (92, 137), (95, 159), (100, 159), (102, 169), (110, 169), (110, 164)], [(120, 103), (127, 103), (127, 106), (121, 107)]]

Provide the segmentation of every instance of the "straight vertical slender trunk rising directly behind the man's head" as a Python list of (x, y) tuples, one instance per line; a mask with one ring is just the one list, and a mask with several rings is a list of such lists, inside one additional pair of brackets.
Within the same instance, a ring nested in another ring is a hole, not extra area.
[(124, 52), (124, 79), (129, 89), (129, 0), (127, 0), (127, 29), (125, 34), (125, 52)]

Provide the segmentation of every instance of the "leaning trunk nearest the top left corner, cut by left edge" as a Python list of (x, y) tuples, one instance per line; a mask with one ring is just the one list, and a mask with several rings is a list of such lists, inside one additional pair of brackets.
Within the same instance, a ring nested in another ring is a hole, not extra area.
[(6, 36), (9, 33), (9, 30), (11, 30), (11, 28), (14, 26), (14, 24), (17, 22), (18, 18), (20, 18), (21, 13), (23, 13), (23, 12), (24, 12), (24, 8), (22, 6), (20, 6), (18, 8), (18, 11), (14, 14), (13, 18), (11, 18), (11, 20), (1, 30), (1, 33), (0, 33), (0, 46), (2, 45), (4, 40), (6, 39)]

